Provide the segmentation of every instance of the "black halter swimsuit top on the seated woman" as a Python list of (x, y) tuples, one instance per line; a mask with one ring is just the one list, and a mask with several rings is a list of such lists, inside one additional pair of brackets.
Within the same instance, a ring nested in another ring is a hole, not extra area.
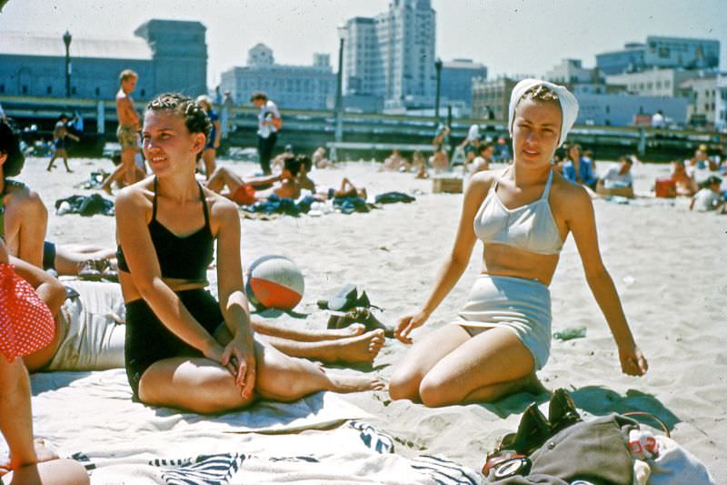
[[(156, 250), (156, 258), (162, 269), (163, 278), (206, 279), (207, 267), (214, 256), (214, 237), (210, 228), (210, 216), (204, 191), (199, 187), (204, 210), (204, 227), (189, 236), (180, 237), (156, 220), (156, 177), (154, 177), (154, 199), (152, 201), (152, 220), (149, 221), (149, 235)], [(118, 267), (129, 272), (121, 246), (116, 249)]]

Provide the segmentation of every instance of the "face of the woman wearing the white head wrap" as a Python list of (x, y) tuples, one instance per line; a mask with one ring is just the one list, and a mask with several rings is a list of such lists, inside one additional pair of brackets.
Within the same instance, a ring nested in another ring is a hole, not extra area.
[(515, 108), (513, 149), (515, 162), (550, 165), (561, 133), (561, 108), (555, 103), (523, 99)]

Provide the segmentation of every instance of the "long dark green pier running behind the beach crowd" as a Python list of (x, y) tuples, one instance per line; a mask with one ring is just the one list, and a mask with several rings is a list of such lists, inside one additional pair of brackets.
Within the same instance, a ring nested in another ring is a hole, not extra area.
[[(116, 141), (117, 126), (113, 100), (76, 99), (57, 97), (0, 96), (0, 104), (6, 116), (15, 119), (21, 127), (36, 125), (35, 131), (25, 132), (27, 137), (50, 139), (55, 120), (61, 113), (73, 116), (75, 112), (84, 118), (85, 130), (82, 142), (73, 150), (87, 157), (101, 156), (105, 142)], [(139, 111), (144, 103), (136, 103)], [(255, 147), (257, 109), (253, 106), (223, 107), (221, 119), (224, 147)], [(284, 126), (278, 136), (277, 147), (293, 145), (295, 151), (311, 153), (315, 147), (326, 146), (334, 141), (335, 114), (333, 111), (306, 111), (281, 109)], [(433, 116), (404, 116), (363, 113), (344, 113), (344, 142), (348, 148), (338, 150), (339, 159), (376, 157), (382, 159), (388, 153), (376, 147), (431, 144), (438, 121)], [(477, 124), (480, 133), (494, 139), (508, 137), (504, 120), (478, 118), (454, 118), (452, 120), (453, 145), (466, 136), (469, 126)], [(637, 154), (643, 160), (667, 161), (672, 158), (690, 157), (700, 145), (716, 147), (720, 135), (716, 132), (652, 129), (639, 126), (575, 126), (568, 136), (593, 150), (596, 158), (612, 159), (624, 154)], [(34, 141), (34, 140), (26, 140)], [(406, 150), (403, 150), (406, 154)]]

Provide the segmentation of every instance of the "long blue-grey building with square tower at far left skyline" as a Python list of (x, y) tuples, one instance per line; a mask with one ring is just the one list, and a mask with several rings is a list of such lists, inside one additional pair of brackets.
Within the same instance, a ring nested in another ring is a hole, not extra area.
[[(124, 69), (139, 75), (138, 99), (165, 91), (205, 94), (205, 31), (199, 22), (153, 19), (134, 31), (136, 38), (74, 37), (71, 96), (113, 99)], [(0, 95), (65, 97), (63, 38), (0, 32)]]

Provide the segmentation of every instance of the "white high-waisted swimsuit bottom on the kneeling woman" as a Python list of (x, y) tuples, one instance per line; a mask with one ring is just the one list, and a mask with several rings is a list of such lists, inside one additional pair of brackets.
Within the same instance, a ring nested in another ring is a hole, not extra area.
[[(551, 292), (539, 281), (481, 274), (453, 324), (476, 329), (510, 328), (542, 369), (551, 350)], [(474, 331), (473, 331), (474, 330)]]

